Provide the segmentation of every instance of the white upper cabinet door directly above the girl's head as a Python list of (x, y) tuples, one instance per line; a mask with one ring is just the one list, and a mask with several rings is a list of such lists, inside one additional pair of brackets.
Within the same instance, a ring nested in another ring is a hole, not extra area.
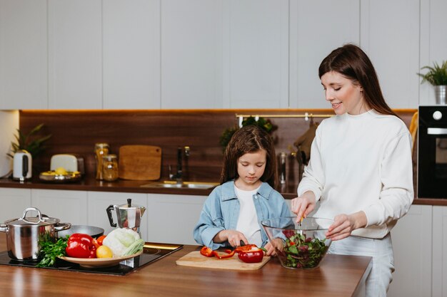
[(224, 108), (288, 108), (289, 1), (223, 2)]

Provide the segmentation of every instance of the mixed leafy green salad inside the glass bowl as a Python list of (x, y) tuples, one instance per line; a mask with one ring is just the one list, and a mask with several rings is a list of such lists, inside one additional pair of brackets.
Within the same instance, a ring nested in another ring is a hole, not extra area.
[(316, 267), (328, 251), (325, 241), (326, 239), (306, 237), (304, 233), (288, 237), (281, 251), (281, 256), (286, 259), (283, 264), (303, 269)]

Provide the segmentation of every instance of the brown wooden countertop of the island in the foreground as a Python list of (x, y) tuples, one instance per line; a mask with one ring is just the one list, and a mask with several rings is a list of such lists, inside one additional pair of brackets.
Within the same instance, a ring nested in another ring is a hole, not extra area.
[[(317, 269), (294, 270), (271, 259), (256, 271), (177, 266), (181, 256), (198, 249), (184, 246), (166, 258), (126, 276), (0, 265), (2, 296), (358, 296), (371, 271), (371, 258), (327, 255)], [(6, 236), (0, 234), (0, 250)], [(361, 296), (361, 295), (360, 295)]]

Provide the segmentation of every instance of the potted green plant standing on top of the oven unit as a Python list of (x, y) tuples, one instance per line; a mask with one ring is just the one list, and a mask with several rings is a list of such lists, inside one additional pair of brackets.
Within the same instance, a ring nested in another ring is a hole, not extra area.
[(421, 69), (428, 69), (426, 74), (418, 73), (423, 82), (431, 83), (435, 87), (436, 104), (447, 104), (446, 90), (447, 90), (447, 61), (443, 61), (441, 66), (434, 62), (433, 67), (424, 66)]

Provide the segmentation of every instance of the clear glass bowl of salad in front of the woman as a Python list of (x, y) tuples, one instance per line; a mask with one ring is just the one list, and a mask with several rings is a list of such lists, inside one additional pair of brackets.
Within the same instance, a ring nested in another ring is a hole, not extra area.
[(261, 225), (283, 267), (312, 269), (318, 267), (331, 245), (326, 232), (332, 223), (331, 219), (316, 217), (298, 223), (296, 217), (281, 217), (266, 219)]

